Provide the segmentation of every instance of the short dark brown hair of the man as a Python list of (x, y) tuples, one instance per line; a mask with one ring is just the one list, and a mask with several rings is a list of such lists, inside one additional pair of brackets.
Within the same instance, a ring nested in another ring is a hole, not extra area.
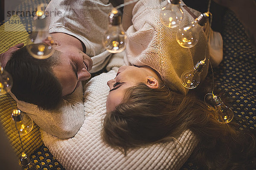
[(52, 66), (58, 64), (59, 57), (60, 51), (55, 51), (48, 59), (35, 59), (26, 47), (15, 51), (5, 70), (12, 75), (11, 91), (16, 98), (38, 105), (39, 109), (56, 108), (61, 101), (62, 87)]

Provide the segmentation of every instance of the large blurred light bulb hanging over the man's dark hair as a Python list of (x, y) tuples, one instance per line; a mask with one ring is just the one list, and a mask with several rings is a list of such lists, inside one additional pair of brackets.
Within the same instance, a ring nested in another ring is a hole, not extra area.
[(54, 53), (54, 41), (48, 33), (46, 19), (39, 6), (34, 18), (34, 31), (29, 35), (26, 45), (29, 54), (36, 59), (47, 59)]

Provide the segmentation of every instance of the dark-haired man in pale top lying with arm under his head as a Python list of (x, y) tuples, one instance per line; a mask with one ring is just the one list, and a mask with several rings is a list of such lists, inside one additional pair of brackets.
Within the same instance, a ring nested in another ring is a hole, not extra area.
[(42, 130), (67, 139), (83, 124), (84, 101), (79, 84), (89, 79), (90, 73), (104, 68), (111, 57), (102, 46), (102, 35), (112, 8), (108, 0), (52, 0), (46, 14), (54, 54), (48, 59), (35, 59), (26, 47), (21, 48), (23, 44), (1, 54), (2, 66), (14, 79), (11, 95), (17, 107)]

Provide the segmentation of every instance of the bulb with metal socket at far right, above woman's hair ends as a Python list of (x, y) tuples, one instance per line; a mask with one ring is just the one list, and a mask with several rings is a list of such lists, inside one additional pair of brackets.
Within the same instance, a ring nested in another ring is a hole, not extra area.
[(229, 123), (234, 117), (233, 111), (224, 105), (220, 97), (213, 95), (212, 99), (215, 102), (215, 119), (220, 123)]

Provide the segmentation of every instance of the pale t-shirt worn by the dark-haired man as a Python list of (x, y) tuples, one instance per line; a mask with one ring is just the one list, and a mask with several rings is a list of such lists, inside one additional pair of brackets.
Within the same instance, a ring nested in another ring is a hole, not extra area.
[(46, 8), (49, 33), (66, 33), (81, 40), (93, 60), (91, 73), (104, 68), (111, 55), (102, 45), (111, 8), (108, 0), (51, 0)]

